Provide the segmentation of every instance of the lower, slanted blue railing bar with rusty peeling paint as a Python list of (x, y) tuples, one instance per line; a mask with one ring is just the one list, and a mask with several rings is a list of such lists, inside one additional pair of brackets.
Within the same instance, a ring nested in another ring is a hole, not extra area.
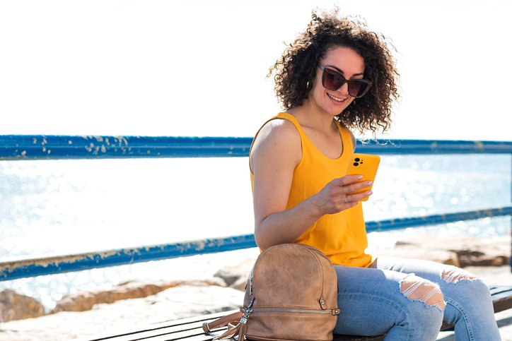
[[(512, 215), (512, 206), (489, 210), (450, 213), (446, 215), (429, 215), (427, 217), (409, 217), (381, 220), (378, 222), (366, 222), (366, 231), (389, 231), (392, 229), (403, 229), (405, 227), (436, 225), (502, 215)], [(256, 247), (254, 234), (245, 234), (219, 239), (184, 241), (175, 244), (140, 246), (130, 249), (117, 249), (76, 255), (17, 258), (12, 261), (0, 262), (0, 280), (15, 280), (23, 277), (66, 273), (114, 265), (248, 249), (252, 247)]]

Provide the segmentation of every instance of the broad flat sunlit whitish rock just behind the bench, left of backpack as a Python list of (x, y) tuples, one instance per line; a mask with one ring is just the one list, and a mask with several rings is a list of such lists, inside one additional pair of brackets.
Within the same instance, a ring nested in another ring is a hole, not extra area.
[(208, 285), (207, 281), (187, 283), (149, 297), (96, 304), (90, 311), (61, 311), (2, 323), (0, 341), (92, 340), (178, 318), (238, 309), (243, 304), (243, 292), (238, 290)]

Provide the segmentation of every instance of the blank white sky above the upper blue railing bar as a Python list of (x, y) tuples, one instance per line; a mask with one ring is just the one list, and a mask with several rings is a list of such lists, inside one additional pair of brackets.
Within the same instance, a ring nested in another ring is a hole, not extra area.
[[(0, 134), (253, 136), (334, 1), (0, 0)], [(388, 138), (511, 140), (512, 1), (338, 1), (398, 49)]]

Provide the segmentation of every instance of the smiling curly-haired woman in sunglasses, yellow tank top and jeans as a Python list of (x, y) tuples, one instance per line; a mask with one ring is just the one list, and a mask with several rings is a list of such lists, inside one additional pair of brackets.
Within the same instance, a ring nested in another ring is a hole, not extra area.
[(348, 128), (390, 125), (397, 100), (395, 61), (385, 37), (337, 11), (317, 14), (271, 68), (286, 112), (258, 131), (250, 152), (255, 239), (260, 249), (310, 244), (335, 265), (334, 333), (385, 340), (436, 340), (441, 323), (455, 340), (500, 340), (487, 285), (430, 261), (368, 255), (361, 200), (371, 191), (347, 176), (355, 139)]

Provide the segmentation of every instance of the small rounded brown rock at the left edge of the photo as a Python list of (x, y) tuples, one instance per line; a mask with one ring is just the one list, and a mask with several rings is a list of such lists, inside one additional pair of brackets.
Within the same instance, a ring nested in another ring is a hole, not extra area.
[(0, 292), (0, 322), (33, 318), (45, 315), (45, 306), (40, 301), (14, 290)]

